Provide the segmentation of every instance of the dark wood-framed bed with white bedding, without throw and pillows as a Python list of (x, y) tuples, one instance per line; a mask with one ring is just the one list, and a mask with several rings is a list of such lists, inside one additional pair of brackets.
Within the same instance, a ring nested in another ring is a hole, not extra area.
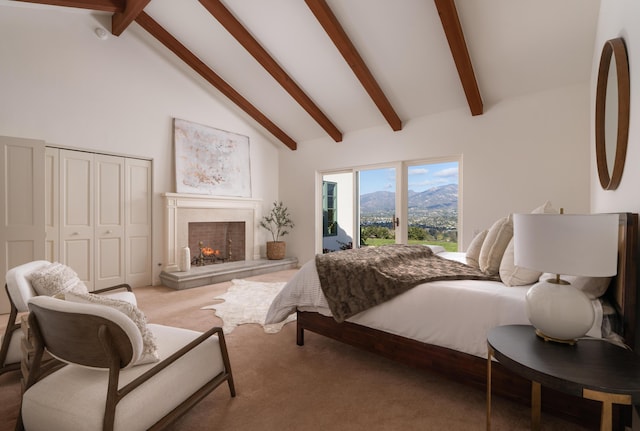
[[(631, 349), (635, 347), (637, 326), (637, 238), (638, 215), (620, 213), (618, 274), (606, 286), (603, 296), (608, 304), (604, 313), (606, 319), (602, 319), (599, 303), (595, 305), (596, 311), (600, 310), (598, 322), (603, 322), (607, 334), (610, 322), (621, 336), (620, 340)], [(438, 254), (463, 261), (465, 257), (461, 253)], [(517, 271), (511, 275), (521, 276)], [(509, 280), (509, 277), (502, 278)], [(535, 280), (537, 277), (531, 278)], [(523, 281), (524, 277), (520, 280)], [(311, 261), (294, 275), (273, 302), (269, 319), (277, 321), (295, 312), (296, 343), (299, 346), (305, 344), (305, 333), (311, 332), (486, 390), (485, 334), (491, 326), (528, 322), (524, 311), (528, 286), (523, 284), (508, 287), (487, 281), (426, 283), (338, 323), (333, 317), (328, 317), (331, 313), (322, 295), (315, 261)], [(447, 287), (449, 285), (454, 287)], [(600, 327), (598, 323), (595, 326)], [(514, 375), (500, 363), (492, 366), (491, 373), (494, 395), (530, 403), (530, 381)], [(593, 408), (593, 401), (545, 387), (542, 392), (543, 411), (589, 426), (599, 423), (599, 409)], [(630, 411), (621, 410), (617, 416), (626, 417), (628, 413)]]

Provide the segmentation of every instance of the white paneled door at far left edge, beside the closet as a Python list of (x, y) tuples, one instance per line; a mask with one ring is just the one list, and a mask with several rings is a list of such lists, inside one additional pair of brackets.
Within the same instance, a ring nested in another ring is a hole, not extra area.
[[(44, 142), (0, 136), (0, 272), (44, 259)], [(4, 283), (2, 283), (4, 285)], [(9, 312), (6, 291), (0, 312)]]

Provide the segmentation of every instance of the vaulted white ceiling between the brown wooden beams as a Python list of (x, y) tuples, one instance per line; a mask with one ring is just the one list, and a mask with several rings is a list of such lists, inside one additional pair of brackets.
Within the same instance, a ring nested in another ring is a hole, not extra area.
[[(446, 1), (325, 1), (403, 124), (455, 109), (467, 109), (472, 115), (436, 7)], [(323, 1), (210, 3), (220, 3), (231, 13), (269, 54), (263, 60), (277, 66), (274, 73), (284, 72), (284, 82), (301, 90), (329, 127), (314, 119), (231, 35), (204, 6), (207, 1), (33, 2), (120, 14), (125, 22), (129, 19), (123, 31), (140, 37), (150, 37), (150, 22), (159, 25), (294, 143), (322, 137), (339, 140), (328, 130), (331, 126), (340, 135), (380, 125), (393, 128), (314, 15), (312, 5)], [(143, 11), (136, 11), (135, 4)], [(453, 9), (482, 112), (504, 99), (589, 82), (599, 0), (455, 0)], [(160, 48), (184, 67), (182, 59)], [(269, 127), (266, 130), (273, 134)]]

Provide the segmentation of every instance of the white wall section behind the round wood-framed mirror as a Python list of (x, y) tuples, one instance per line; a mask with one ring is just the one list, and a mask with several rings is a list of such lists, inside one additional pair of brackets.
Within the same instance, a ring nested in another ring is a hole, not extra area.
[(631, 78), (631, 117), (629, 144), (622, 181), (617, 190), (600, 187), (595, 165), (595, 136), (590, 134), (591, 209), (593, 212), (640, 212), (640, 3), (634, 0), (603, 0), (600, 4), (598, 32), (594, 47), (591, 91), (591, 129), (594, 130), (595, 94), (600, 52), (605, 41), (623, 37), (627, 45)]

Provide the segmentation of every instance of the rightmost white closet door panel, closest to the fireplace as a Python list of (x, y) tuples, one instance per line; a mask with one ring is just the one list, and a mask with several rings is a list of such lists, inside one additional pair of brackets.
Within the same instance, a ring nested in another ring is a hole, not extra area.
[(151, 275), (151, 161), (126, 159), (126, 281), (148, 286)]

